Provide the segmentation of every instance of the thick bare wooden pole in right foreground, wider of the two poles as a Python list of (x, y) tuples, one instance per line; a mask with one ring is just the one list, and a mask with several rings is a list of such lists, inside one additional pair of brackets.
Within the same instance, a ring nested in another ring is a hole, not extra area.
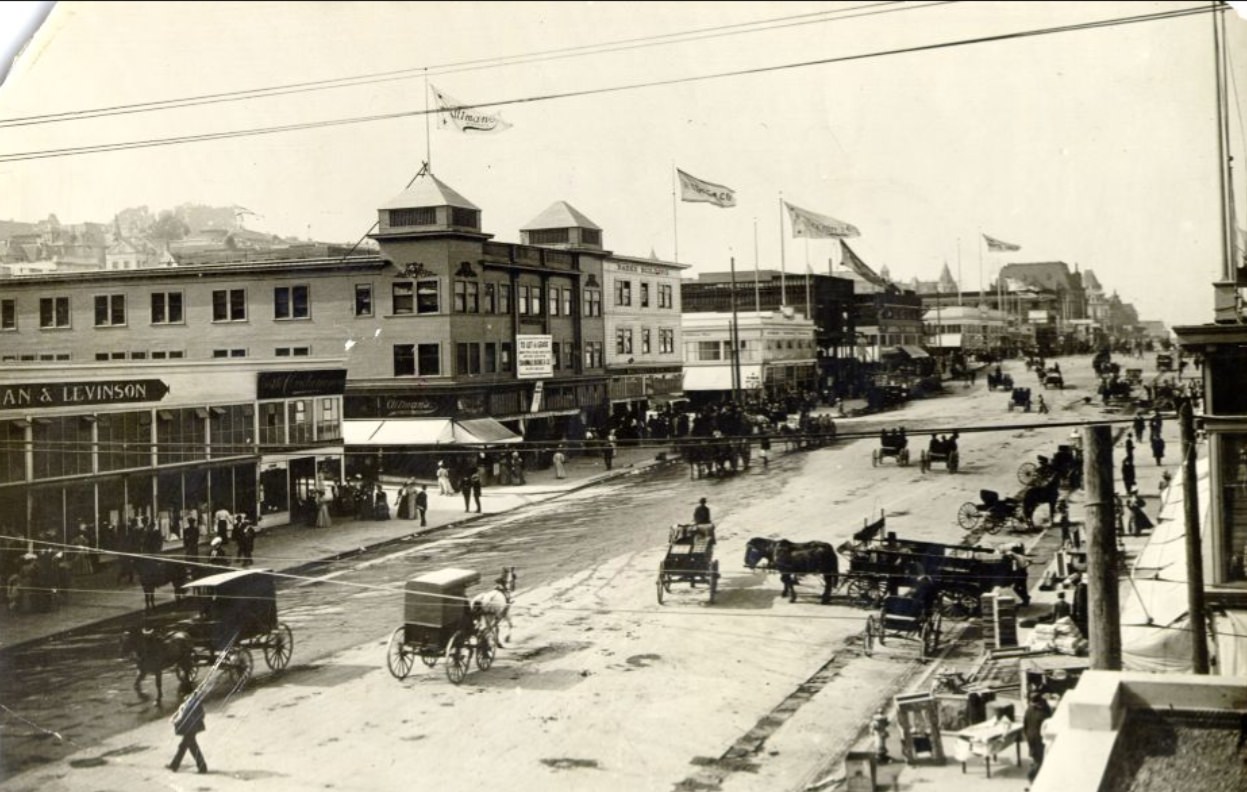
[(1117, 526), (1112, 496), (1112, 428), (1082, 429), (1087, 449), (1087, 642), (1091, 667), (1121, 670), (1121, 611), (1117, 602)]

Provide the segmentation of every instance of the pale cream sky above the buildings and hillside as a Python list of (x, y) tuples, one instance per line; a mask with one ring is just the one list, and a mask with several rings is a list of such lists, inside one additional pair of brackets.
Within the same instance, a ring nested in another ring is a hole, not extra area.
[[(1064, 261), (1143, 319), (1211, 322), (1212, 21), (1082, 27), (1207, 5), (57, 2), (0, 85), (0, 220), (237, 205), (253, 212), (248, 228), (354, 242), (429, 158), (503, 242), (561, 200), (616, 253), (671, 261), (678, 241), (688, 276), (732, 258), (742, 272), (827, 272), (838, 243), (792, 238), (787, 201), (855, 226), (858, 256), (902, 283), (946, 263), (978, 289), (1004, 263)], [(0, 2), (0, 14), (40, 6)], [(1226, 29), (1241, 157), (1247, 22), (1230, 11)], [(981, 37), (998, 39), (956, 44)], [(362, 75), (390, 76), (324, 87)], [(319, 90), (5, 123), (306, 82)], [(426, 82), (511, 126), (426, 125)], [(11, 157), (365, 116), (388, 117)], [(731, 187), (737, 205), (675, 201), (676, 167)], [(1021, 249), (988, 252), (984, 233)]]

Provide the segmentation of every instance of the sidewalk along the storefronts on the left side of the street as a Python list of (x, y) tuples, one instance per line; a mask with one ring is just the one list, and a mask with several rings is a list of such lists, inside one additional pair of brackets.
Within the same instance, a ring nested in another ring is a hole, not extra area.
[[(650, 465), (662, 464), (657, 459), (658, 454), (660, 452), (652, 447), (635, 448), (620, 444), (611, 470), (606, 469), (601, 455), (580, 455), (567, 460), (567, 476), (565, 479), (556, 479), (552, 466), (547, 470), (529, 471), (522, 485), (484, 488), (480, 496), (481, 514), (465, 513), (463, 495), (458, 493), (446, 496), (439, 495), (435, 480), (418, 480), (419, 484), (429, 485), (428, 525), (425, 528), (420, 528), (419, 520), (399, 520), (393, 516), (397, 514), (395, 504), (402, 483), (383, 480), (382, 486), (389, 498), (392, 519), (345, 519), (335, 521), (329, 529), (293, 524), (266, 529), (256, 538), (253, 569), (297, 572), (312, 564), (335, 560), (413, 535), (460, 525), (483, 515), (510, 511), (614, 476), (627, 475)], [(675, 456), (668, 452), (666, 458), (670, 460)], [(200, 561), (205, 569), (197, 576), (211, 574), (218, 569), (205, 563), (207, 550), (207, 538), (205, 538), (200, 548)], [(233, 554), (236, 548), (229, 545), (228, 550)], [(183, 558), (181, 548), (177, 546), (166, 550), (163, 555), (178, 560)], [(136, 582), (120, 582), (115, 556), (104, 554), (104, 560), (105, 563), (101, 564), (97, 572), (75, 575), (74, 589), (67, 592), (66, 601), (54, 611), (14, 614), (0, 607), (0, 651), (80, 630), (101, 621), (140, 617), (143, 611), (143, 592), (137, 584), (137, 576)], [(172, 604), (172, 587), (157, 589), (156, 601), (157, 607)]]

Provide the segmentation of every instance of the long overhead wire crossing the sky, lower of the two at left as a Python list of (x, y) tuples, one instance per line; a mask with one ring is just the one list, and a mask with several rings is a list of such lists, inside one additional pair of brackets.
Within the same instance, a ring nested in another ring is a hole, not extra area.
[[(1077, 24), (1071, 24), (1071, 25), (1056, 25), (1056, 26), (1050, 26), (1050, 27), (1038, 27), (1038, 29), (1021, 30), (1021, 31), (1014, 31), (1014, 32), (1006, 32), (1006, 34), (995, 34), (995, 35), (989, 35), (989, 36), (975, 36), (975, 37), (969, 37), (969, 39), (958, 39), (958, 40), (940, 41), (940, 42), (934, 42), (934, 44), (914, 45), (914, 46), (908, 46), (908, 47), (893, 47), (893, 49), (887, 49), (887, 50), (875, 50), (875, 51), (872, 51), (872, 52), (862, 52), (862, 54), (857, 54), (857, 55), (843, 55), (843, 56), (823, 57), (823, 59), (797, 61), (797, 62), (789, 62), (789, 64), (779, 64), (779, 65), (773, 65), (773, 66), (756, 66), (756, 67), (749, 67), (749, 69), (737, 69), (737, 70), (720, 71), (720, 72), (713, 72), (713, 74), (707, 74), (707, 75), (692, 75), (692, 76), (683, 76), (683, 77), (671, 77), (671, 79), (666, 79), (666, 80), (650, 80), (650, 81), (632, 82), (632, 84), (615, 85), (615, 86), (606, 86), (606, 87), (581, 89), (581, 90), (572, 90), (572, 91), (557, 91), (557, 92), (552, 92), (552, 94), (532, 95), (532, 96), (525, 96), (525, 97), (515, 97), (515, 99), (495, 100), (495, 101), (475, 102), (475, 104), (464, 104), (464, 105), (460, 105), (459, 107), (463, 109), (463, 110), (475, 110), (475, 109), (486, 109), (486, 107), (493, 109), (493, 107), (506, 107), (506, 106), (540, 104), (540, 102), (556, 101), (556, 100), (566, 100), (566, 99), (579, 99), (579, 97), (586, 97), (586, 96), (602, 96), (602, 95), (607, 95), (607, 94), (617, 94), (617, 92), (624, 92), (624, 91), (635, 91), (635, 90), (640, 90), (640, 89), (668, 87), (668, 86), (675, 86), (675, 85), (690, 85), (690, 84), (695, 84), (695, 82), (706, 82), (706, 81), (711, 81), (711, 80), (722, 80), (722, 79), (729, 79), (729, 77), (742, 77), (742, 76), (753, 76), (753, 75), (763, 75), (763, 74), (774, 74), (774, 72), (781, 72), (781, 71), (787, 71), (787, 70), (793, 70), (793, 69), (808, 69), (808, 67), (813, 67), (813, 66), (827, 66), (827, 65), (832, 65), (832, 64), (845, 64), (845, 62), (854, 62), (854, 61), (865, 61), (865, 60), (873, 60), (873, 59), (878, 59), (878, 57), (889, 57), (889, 56), (894, 56), (894, 55), (912, 55), (912, 54), (930, 52), (930, 51), (944, 50), (944, 49), (973, 46), (973, 45), (979, 45), (979, 44), (1016, 41), (1016, 40), (1030, 39), (1030, 37), (1035, 37), (1035, 36), (1046, 36), (1046, 35), (1065, 34), (1065, 32), (1077, 32), (1077, 31), (1085, 31), (1085, 30), (1099, 30), (1099, 29), (1102, 29), (1102, 27), (1114, 27), (1114, 26), (1119, 26), (1119, 25), (1131, 25), (1131, 24), (1140, 24), (1140, 22), (1181, 19), (1181, 17), (1185, 17), (1185, 16), (1192, 16), (1192, 15), (1198, 15), (1198, 14), (1211, 14), (1211, 12), (1215, 12), (1215, 11), (1216, 11), (1216, 9), (1210, 9), (1208, 6), (1177, 9), (1177, 10), (1168, 10), (1168, 11), (1153, 12), (1153, 14), (1140, 14), (1140, 15), (1134, 15), (1134, 16), (1112, 17), (1112, 19), (1107, 19), (1107, 20), (1095, 20), (1095, 21), (1090, 21), (1090, 22), (1077, 22)], [(368, 115), (368, 116), (349, 116), (349, 117), (342, 117), (342, 118), (325, 118), (325, 120), (320, 120), (320, 121), (293, 122), (293, 123), (276, 125), (276, 126), (268, 126), (268, 127), (252, 127), (252, 128), (246, 128), (246, 130), (229, 130), (229, 131), (221, 131), (221, 132), (180, 135), (180, 136), (173, 136), (173, 137), (158, 137), (158, 138), (141, 138), (141, 140), (132, 140), (132, 141), (120, 141), (120, 142), (113, 142), (113, 143), (92, 143), (92, 145), (84, 145), (84, 146), (67, 146), (67, 147), (64, 147), (64, 148), (46, 148), (46, 150), (35, 150), (35, 151), (21, 151), (21, 152), (11, 152), (11, 153), (2, 153), (2, 155), (0, 155), (0, 162), (27, 162), (27, 161), (35, 161), (35, 160), (47, 160), (47, 158), (81, 156), (81, 155), (89, 155), (89, 153), (105, 153), (105, 152), (112, 152), (112, 151), (132, 151), (132, 150), (138, 150), (138, 148), (152, 148), (152, 147), (173, 146), (173, 145), (195, 143), (195, 142), (232, 140), (232, 138), (238, 138), (238, 137), (252, 137), (252, 136), (261, 136), (261, 135), (276, 135), (276, 133), (282, 133), (282, 132), (318, 130), (318, 128), (332, 128), (332, 127), (338, 127), (338, 126), (348, 126), (348, 125), (358, 125), (358, 123), (370, 123), (370, 122), (377, 122), (377, 121), (393, 121), (393, 120), (398, 120), (398, 118), (419, 117), (419, 116), (425, 116), (425, 115), (430, 115), (430, 113), (431, 115), (436, 115), (436, 113), (440, 113), (440, 112), (441, 112), (441, 110), (423, 110), (423, 109), (421, 110), (400, 110), (400, 111), (394, 111), (394, 112), (374, 113), (374, 115)]]

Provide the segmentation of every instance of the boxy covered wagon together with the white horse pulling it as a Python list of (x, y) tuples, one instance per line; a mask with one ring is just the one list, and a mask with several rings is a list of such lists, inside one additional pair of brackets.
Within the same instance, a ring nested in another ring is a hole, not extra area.
[(415, 659), (434, 667), (445, 659), (446, 679), (459, 685), (475, 660), (488, 671), (501, 646), (499, 624), (510, 626), (510, 596), (515, 567), (508, 567), (494, 591), (468, 599), (468, 586), (480, 582), (480, 574), (466, 569), (441, 569), (407, 581), (403, 625), (390, 634), (385, 664), (394, 679), (412, 672)]

